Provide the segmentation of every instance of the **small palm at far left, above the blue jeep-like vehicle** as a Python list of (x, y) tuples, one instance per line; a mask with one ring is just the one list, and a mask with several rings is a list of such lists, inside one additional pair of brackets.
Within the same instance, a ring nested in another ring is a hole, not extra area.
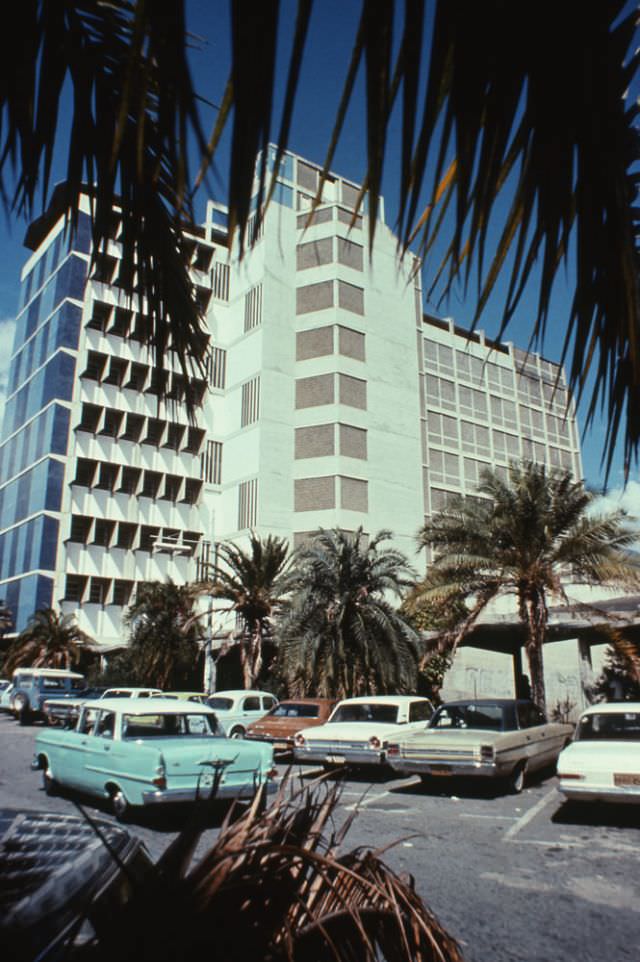
[(78, 664), (92, 641), (78, 628), (73, 615), (42, 608), (9, 648), (4, 670), (11, 673), (21, 666), (68, 670)]

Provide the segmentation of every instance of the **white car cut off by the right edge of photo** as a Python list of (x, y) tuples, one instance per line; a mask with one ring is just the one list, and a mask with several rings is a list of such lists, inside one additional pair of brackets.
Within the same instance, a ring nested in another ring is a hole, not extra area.
[(640, 804), (640, 702), (592, 705), (558, 758), (570, 801)]

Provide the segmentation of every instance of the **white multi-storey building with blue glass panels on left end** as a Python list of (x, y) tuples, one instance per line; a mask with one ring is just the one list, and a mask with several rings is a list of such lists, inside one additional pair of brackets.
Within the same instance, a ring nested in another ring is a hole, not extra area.
[(121, 644), (138, 583), (194, 580), (250, 531), (295, 546), (389, 529), (424, 568), (425, 515), (472, 495), (484, 466), (581, 477), (562, 372), (424, 315), (384, 205), (370, 253), (358, 185), (328, 178), (312, 211), (318, 184), (286, 154), (243, 257), (218, 204), (187, 232), (211, 336), (195, 422), (171, 352), (155, 372), (141, 344), (143, 300), (118, 288), (117, 212), (91, 277), (88, 200), (72, 247), (55, 202), (32, 225), (0, 440), (0, 597), (18, 631), (52, 605)]

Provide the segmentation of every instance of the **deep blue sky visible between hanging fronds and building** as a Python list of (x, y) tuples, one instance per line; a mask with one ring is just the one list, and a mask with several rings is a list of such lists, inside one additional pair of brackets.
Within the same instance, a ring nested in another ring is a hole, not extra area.
[[(196, 88), (207, 100), (216, 103), (221, 99), (229, 71), (229, 2), (225, 0), (187, 0), (187, 23), (194, 34), (191, 63)], [(401, 13), (402, 5), (398, 5)], [(296, 4), (293, 0), (281, 2), (282, 29), (279, 42), (282, 56), (278, 75), (278, 89), (272, 136), (277, 134), (279, 108), (285, 82), (287, 52), (293, 35)], [(289, 146), (291, 150), (322, 162), (325, 157), (332, 130), (336, 107), (349, 61), (353, 37), (360, 12), (359, 0), (321, 0), (315, 10), (307, 41), (306, 57), (301, 78), (299, 96), (294, 114), (294, 122)], [(401, 22), (398, 23), (398, 35)], [(428, 27), (427, 27), (428, 30)], [(336, 152), (333, 167), (343, 176), (356, 182), (362, 180), (365, 170), (365, 119), (362, 109), (362, 86), (358, 88), (353, 107), (347, 117), (344, 132)], [(205, 126), (213, 121), (214, 111), (204, 108)], [(397, 118), (391, 123), (389, 151), (385, 162), (384, 195), (386, 220), (393, 227), (397, 211), (397, 183), (399, 171), (399, 125)], [(209, 178), (209, 191), (201, 192), (197, 214), (204, 212), (207, 194), (213, 193), (217, 199), (224, 200), (227, 182), (228, 137), (223, 139), (218, 154), (216, 170)], [(426, 202), (426, 198), (425, 198)], [(17, 219), (7, 220), (2, 240), (0, 259), (0, 402), (6, 384), (8, 357), (13, 337), (13, 317), (18, 300), (19, 272), (27, 251), (22, 246), (26, 225)], [(433, 264), (425, 265), (424, 287), (430, 282)], [(498, 292), (499, 294), (499, 292)], [(552, 360), (559, 360), (562, 338), (571, 301), (571, 276), (561, 275), (556, 284), (556, 293), (550, 317), (549, 334), (542, 347), (542, 353)], [(529, 341), (535, 310), (535, 289), (532, 288), (522, 301), (517, 315), (506, 335), (521, 347)], [(426, 305), (434, 310), (435, 305)], [(475, 307), (472, 296), (465, 297), (461, 291), (454, 293), (449, 301), (440, 307), (440, 313), (454, 318), (457, 324), (468, 326)], [(495, 336), (499, 323), (499, 301), (493, 299), (483, 315), (480, 327), (488, 336)], [(580, 421), (582, 427), (583, 421)], [(604, 472), (600, 459), (603, 450), (605, 422), (599, 420), (590, 430), (583, 442), (583, 460), (587, 482), (593, 487), (602, 487)], [(616, 457), (609, 479), (611, 497), (619, 499), (622, 495), (622, 458)], [(637, 469), (633, 471), (631, 483), (624, 495), (625, 502), (634, 513), (640, 515), (640, 484)]]

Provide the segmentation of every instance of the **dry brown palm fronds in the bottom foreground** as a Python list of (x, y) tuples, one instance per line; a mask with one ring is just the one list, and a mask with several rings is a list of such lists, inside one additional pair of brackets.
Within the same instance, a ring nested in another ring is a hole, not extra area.
[(83, 958), (462, 962), (410, 879), (369, 850), (341, 854), (351, 819), (333, 824), (339, 791), (291, 792), (285, 779), (266, 813), (256, 799), (227, 818), (192, 866), (196, 822)]

